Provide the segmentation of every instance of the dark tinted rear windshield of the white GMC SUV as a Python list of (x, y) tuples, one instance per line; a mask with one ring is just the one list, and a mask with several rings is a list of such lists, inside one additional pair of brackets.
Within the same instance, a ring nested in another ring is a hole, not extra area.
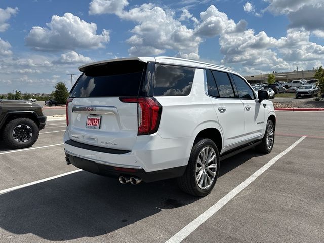
[(119, 61), (88, 67), (71, 91), (72, 98), (138, 96), (145, 63)]

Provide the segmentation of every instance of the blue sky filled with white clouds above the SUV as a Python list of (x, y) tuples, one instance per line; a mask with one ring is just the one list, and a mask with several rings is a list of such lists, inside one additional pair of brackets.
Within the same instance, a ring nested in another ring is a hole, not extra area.
[[(92, 61), (175, 56), (243, 74), (324, 63), (323, 0), (2, 0), (0, 94), (50, 93)], [(73, 77), (76, 80), (76, 76)]]

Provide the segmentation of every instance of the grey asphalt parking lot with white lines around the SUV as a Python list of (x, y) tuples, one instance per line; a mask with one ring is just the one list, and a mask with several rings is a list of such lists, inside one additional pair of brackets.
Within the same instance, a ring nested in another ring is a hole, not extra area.
[(0, 144), (0, 241), (324, 242), (324, 112), (276, 114), (272, 152), (222, 161), (204, 198), (66, 165), (65, 121), (48, 121), (32, 149)]

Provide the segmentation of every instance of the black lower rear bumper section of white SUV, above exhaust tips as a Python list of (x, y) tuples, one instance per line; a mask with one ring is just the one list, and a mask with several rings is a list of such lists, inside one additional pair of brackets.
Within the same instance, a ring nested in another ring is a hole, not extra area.
[(89, 159), (80, 158), (78, 156), (75, 156), (74, 154), (72, 155), (67, 151), (65, 151), (65, 156), (66, 158), (68, 158), (72, 165), (85, 171), (114, 178), (118, 178), (121, 175), (137, 176), (141, 178), (144, 182), (153, 182), (180, 177), (186, 170), (186, 166), (180, 166), (164, 170), (146, 172), (142, 168), (125, 168), (100, 164)]

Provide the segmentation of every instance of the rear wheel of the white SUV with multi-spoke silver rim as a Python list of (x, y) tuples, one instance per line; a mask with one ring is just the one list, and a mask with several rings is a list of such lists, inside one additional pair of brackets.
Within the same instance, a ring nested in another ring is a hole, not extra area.
[(193, 196), (206, 196), (214, 188), (219, 173), (219, 152), (207, 138), (192, 148), (185, 173), (178, 178), (180, 189)]

